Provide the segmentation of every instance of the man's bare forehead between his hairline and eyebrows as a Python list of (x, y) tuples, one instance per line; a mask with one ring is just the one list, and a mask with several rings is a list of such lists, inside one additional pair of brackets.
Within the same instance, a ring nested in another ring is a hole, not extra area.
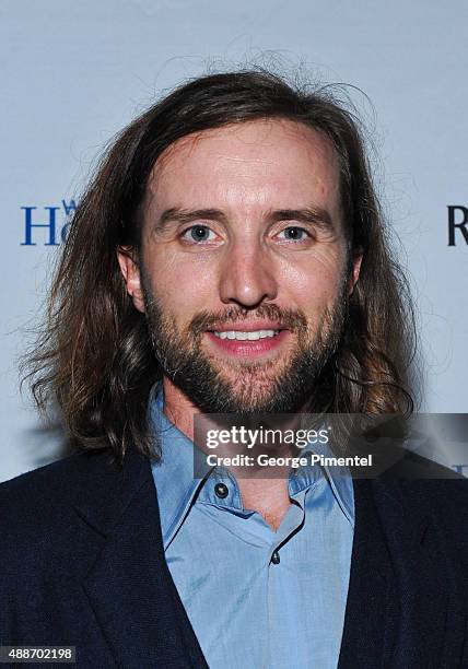
[[(156, 161), (153, 207), (339, 209), (339, 163), (319, 131), (283, 119), (255, 120), (185, 137)], [(336, 210), (336, 211), (334, 211)]]

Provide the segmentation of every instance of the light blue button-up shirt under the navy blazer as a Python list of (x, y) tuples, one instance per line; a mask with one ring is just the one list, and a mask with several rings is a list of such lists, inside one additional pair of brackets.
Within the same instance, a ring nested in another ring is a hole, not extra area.
[(227, 470), (194, 479), (195, 446), (164, 415), (161, 390), (151, 414), (166, 561), (209, 667), (336, 668), (354, 531), (351, 478), (315, 465), (291, 472), (293, 503), (273, 531), (243, 507)]

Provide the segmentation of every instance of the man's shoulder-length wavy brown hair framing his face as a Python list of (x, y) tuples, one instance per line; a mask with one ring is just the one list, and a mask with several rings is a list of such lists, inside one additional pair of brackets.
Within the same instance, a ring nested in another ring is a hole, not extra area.
[(354, 115), (330, 87), (311, 91), (249, 70), (212, 74), (176, 89), (125, 128), (81, 199), (54, 277), (47, 322), (26, 357), (34, 399), (58, 402), (82, 448), (133, 447), (155, 457), (150, 390), (162, 377), (144, 315), (128, 296), (116, 249), (139, 249), (145, 185), (162, 152), (192, 132), (284, 118), (323, 132), (340, 161), (351, 248), (363, 251), (347, 328), (324, 368), (315, 410), (408, 413), (414, 321), (408, 284), (391, 255)]

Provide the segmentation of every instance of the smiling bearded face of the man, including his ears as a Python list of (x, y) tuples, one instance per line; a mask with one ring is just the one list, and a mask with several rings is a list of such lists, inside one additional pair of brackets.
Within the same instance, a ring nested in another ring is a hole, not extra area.
[(166, 394), (211, 412), (299, 410), (359, 271), (335, 150), (271, 119), (177, 141), (149, 179), (140, 267), (120, 265)]

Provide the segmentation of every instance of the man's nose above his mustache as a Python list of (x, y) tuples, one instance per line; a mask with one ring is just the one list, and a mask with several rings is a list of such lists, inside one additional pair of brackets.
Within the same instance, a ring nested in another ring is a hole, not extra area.
[(226, 254), (221, 267), (220, 298), (224, 304), (244, 308), (259, 306), (278, 295), (278, 277), (260, 246), (235, 245)]

